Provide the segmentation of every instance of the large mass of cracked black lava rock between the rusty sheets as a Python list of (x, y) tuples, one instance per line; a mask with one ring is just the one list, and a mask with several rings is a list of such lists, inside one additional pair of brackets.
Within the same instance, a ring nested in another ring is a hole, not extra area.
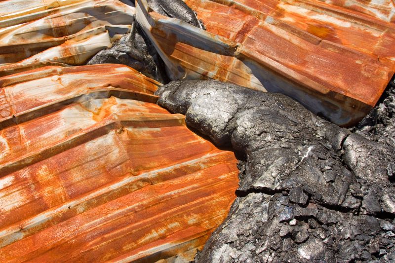
[(197, 262), (395, 260), (394, 148), (287, 96), (174, 81), (158, 104), (241, 161), (238, 198)]

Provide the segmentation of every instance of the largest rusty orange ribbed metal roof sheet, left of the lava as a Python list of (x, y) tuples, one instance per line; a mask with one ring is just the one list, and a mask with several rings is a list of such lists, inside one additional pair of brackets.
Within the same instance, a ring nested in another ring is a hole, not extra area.
[(235, 199), (236, 158), (122, 65), (4, 76), (0, 262), (191, 260)]

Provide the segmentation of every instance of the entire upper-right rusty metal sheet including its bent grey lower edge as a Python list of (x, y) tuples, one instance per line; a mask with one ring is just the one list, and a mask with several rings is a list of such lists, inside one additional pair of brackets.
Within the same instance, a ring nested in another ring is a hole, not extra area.
[(207, 31), (136, 2), (171, 78), (281, 92), (340, 125), (368, 113), (395, 72), (393, 1), (185, 0)]

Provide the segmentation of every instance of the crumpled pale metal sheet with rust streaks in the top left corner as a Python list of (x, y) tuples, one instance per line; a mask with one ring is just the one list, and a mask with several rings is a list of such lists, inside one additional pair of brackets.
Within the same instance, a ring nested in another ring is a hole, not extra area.
[(130, 30), (133, 16), (118, 0), (0, 1), (0, 72), (83, 65)]

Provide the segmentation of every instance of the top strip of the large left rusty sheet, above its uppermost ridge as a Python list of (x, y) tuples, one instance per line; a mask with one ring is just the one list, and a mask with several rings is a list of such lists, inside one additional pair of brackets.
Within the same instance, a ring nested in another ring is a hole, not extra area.
[(157, 81), (123, 65), (44, 67), (0, 78), (0, 127), (21, 123), (91, 98), (156, 103)]

